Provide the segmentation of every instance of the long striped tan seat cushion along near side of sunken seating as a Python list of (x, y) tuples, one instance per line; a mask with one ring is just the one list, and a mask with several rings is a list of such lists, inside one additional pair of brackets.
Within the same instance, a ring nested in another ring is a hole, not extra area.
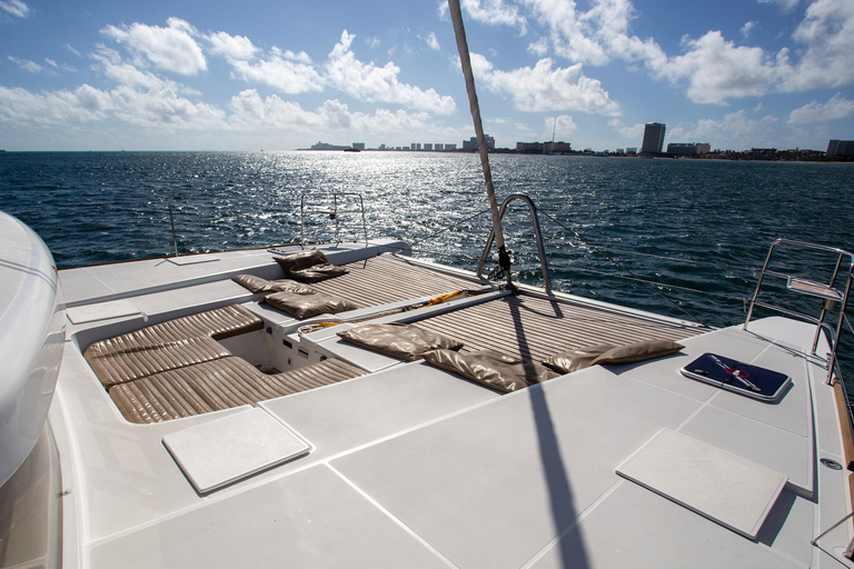
[(307, 391), (365, 372), (327, 359), (267, 375), (235, 357), (196, 363), (112, 386), (110, 397), (131, 422), (160, 422)]

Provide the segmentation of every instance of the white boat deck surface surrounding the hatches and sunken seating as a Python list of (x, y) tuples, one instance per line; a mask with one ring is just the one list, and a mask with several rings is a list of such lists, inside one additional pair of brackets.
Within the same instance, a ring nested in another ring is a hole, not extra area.
[[(228, 268), (219, 274), (264, 264), (262, 256), (230, 254), (160, 267), (142, 283), (142, 264), (152, 261), (66, 272), (66, 293), (79, 307), (100, 295), (119, 300), (131, 287), (148, 291), (129, 300), (139, 315), (70, 331), (87, 338), (97, 326), (143, 326), (143, 313), (178, 311), (188, 298), (193, 306), (250, 299), (203, 273), (217, 263)], [(192, 281), (171, 271), (201, 272)], [(168, 290), (188, 280), (191, 295)], [(69, 342), (49, 416), (71, 490), (64, 565), (851, 567), (836, 550), (847, 546), (850, 525), (821, 541), (835, 557), (810, 545), (851, 510), (848, 472), (817, 462), (844, 460), (826, 371), (803, 353), (812, 340), (811, 326), (759, 320), (749, 331), (688, 338), (678, 355), (589, 368), (506, 396), (423, 362), (380, 366), (354, 348), (348, 359), (378, 371), (259, 408), (305, 438), (310, 453), (205, 496), (162, 438), (246, 408), (131, 425)], [(784, 372), (794, 385), (768, 405), (679, 375), (707, 351)], [(788, 480), (756, 540), (617, 475), (662, 429)]]

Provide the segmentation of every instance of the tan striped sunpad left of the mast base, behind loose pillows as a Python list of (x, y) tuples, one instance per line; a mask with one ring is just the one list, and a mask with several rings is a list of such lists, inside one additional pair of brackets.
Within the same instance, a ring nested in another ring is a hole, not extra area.
[(410, 298), (437, 297), (480, 286), (476, 281), (408, 263), (391, 254), (371, 257), (344, 267), (349, 271), (347, 274), (312, 282), (310, 287), (365, 308)]

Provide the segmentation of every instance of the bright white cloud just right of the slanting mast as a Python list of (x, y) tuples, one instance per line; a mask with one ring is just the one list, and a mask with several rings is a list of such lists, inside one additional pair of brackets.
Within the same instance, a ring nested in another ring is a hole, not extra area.
[(619, 106), (599, 81), (582, 73), (580, 63), (557, 69), (553, 66), (554, 61), (546, 58), (534, 68), (500, 71), (484, 56), (471, 53), (471, 68), (477, 80), (493, 92), (509, 96), (519, 110), (619, 114)]

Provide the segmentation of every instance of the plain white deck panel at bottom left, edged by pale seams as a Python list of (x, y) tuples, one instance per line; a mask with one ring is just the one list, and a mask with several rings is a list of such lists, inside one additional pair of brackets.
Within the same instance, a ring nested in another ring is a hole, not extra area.
[(446, 568), (325, 466), (99, 543), (92, 568)]

